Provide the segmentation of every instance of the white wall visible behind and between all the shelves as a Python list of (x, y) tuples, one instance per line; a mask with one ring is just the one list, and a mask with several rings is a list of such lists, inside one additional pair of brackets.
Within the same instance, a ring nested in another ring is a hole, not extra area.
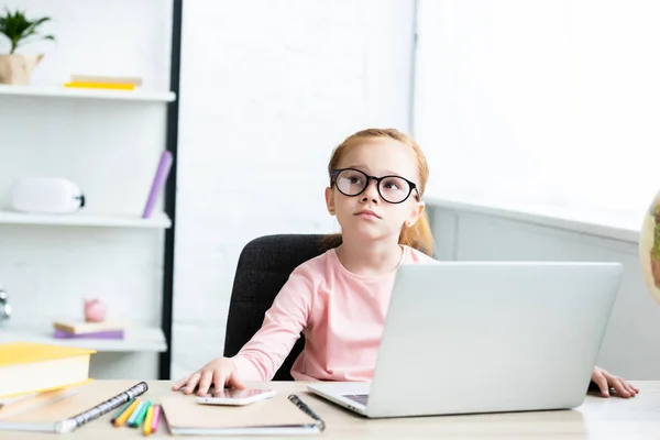
[[(145, 89), (168, 90), (169, 0), (3, 6), (53, 18), (44, 31), (55, 44), (19, 51), (45, 53), (34, 86), (99, 74), (141, 76)], [(0, 53), (8, 47), (0, 38)], [(140, 217), (165, 148), (165, 110), (163, 103), (0, 97), (0, 209), (15, 178), (55, 176), (81, 186), (87, 213)], [(4, 330), (81, 319), (85, 297), (103, 299), (108, 319), (160, 327), (162, 252), (160, 230), (0, 224), (0, 284), (13, 306)], [(103, 354), (92, 358), (91, 374), (155, 378), (156, 366), (155, 353)]]

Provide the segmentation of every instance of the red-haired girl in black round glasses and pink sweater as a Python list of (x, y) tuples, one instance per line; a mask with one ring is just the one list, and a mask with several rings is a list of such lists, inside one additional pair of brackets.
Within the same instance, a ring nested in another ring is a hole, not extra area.
[[(402, 263), (432, 262), (433, 241), (421, 201), (429, 167), (417, 143), (396, 130), (364, 130), (339, 145), (328, 166), (328, 211), (341, 235), (336, 246), (299, 265), (265, 315), (262, 328), (233, 358), (218, 358), (176, 382), (198, 395), (270, 381), (300, 332), (306, 346), (297, 381), (371, 381), (394, 276)], [(594, 369), (606, 395), (638, 389)]]

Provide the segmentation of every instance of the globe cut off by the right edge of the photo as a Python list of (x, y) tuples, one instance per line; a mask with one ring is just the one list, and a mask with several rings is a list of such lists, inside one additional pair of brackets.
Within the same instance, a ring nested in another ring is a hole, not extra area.
[(649, 290), (660, 304), (660, 191), (644, 218), (639, 234), (639, 262)]

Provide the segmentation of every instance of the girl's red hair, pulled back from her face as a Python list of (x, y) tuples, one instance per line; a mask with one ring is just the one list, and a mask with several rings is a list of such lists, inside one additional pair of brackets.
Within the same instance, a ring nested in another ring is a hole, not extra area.
[[(328, 164), (328, 174), (330, 175), (332, 173), (332, 169), (336, 169), (339, 166), (339, 163), (341, 162), (341, 158), (343, 157), (348, 148), (365, 140), (373, 140), (378, 138), (393, 139), (413, 148), (413, 151), (415, 152), (415, 156), (417, 157), (419, 173), (419, 182), (417, 183), (417, 189), (419, 190), (419, 195), (424, 196), (426, 184), (429, 180), (429, 165), (427, 163), (426, 156), (421, 152), (421, 148), (419, 147), (417, 142), (415, 142), (410, 136), (395, 129), (367, 129), (351, 134), (337, 148), (334, 148), (334, 152), (332, 152), (332, 157), (330, 158), (330, 163)], [(332, 186), (332, 180), (330, 182), (330, 186)], [(329, 246), (337, 248), (342, 242), (341, 234), (329, 234), (326, 238), (324, 242)], [(399, 244), (415, 248), (429, 256), (433, 255), (433, 235), (431, 234), (431, 227), (429, 224), (429, 218), (426, 211), (422, 213), (419, 220), (417, 220), (417, 222), (410, 228), (404, 227), (402, 229), (398, 242)]]

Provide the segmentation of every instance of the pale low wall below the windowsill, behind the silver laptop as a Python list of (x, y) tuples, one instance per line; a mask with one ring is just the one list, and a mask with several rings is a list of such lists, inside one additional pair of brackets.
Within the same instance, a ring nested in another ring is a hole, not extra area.
[[(431, 207), (439, 260), (606, 261), (624, 265), (597, 365), (626, 380), (660, 378), (660, 307), (649, 294), (637, 243), (535, 224), (535, 219)], [(520, 216), (517, 216), (520, 217)]]

